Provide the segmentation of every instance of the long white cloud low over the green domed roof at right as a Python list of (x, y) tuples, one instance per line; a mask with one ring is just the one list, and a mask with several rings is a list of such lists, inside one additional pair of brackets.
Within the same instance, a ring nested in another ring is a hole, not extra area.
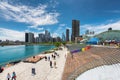
[(120, 30), (120, 21), (116, 21), (114, 23), (108, 23), (108, 24), (100, 24), (100, 25), (82, 25), (81, 29), (82, 31), (85, 30), (91, 30), (95, 31), (96, 34), (101, 33), (103, 31), (107, 31), (108, 28), (112, 28), (113, 30)]

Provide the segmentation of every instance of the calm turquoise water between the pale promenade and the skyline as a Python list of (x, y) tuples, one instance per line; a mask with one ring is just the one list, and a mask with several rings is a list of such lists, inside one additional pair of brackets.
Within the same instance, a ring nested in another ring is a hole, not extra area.
[(22, 60), (24, 58), (40, 54), (46, 50), (50, 50), (54, 46), (45, 45), (18, 45), (18, 46), (0, 46), (0, 65)]

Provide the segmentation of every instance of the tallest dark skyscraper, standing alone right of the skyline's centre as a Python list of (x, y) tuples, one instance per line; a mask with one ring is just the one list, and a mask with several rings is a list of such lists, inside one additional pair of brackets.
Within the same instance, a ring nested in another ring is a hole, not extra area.
[(72, 20), (71, 41), (75, 41), (75, 37), (79, 37), (79, 20)]

